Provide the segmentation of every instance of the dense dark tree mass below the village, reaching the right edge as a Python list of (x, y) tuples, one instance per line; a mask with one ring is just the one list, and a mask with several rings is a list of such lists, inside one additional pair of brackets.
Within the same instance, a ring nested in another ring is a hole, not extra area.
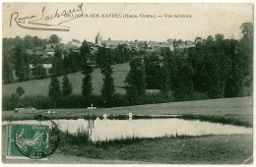
[[(115, 92), (112, 78), (111, 65), (115, 63), (113, 53), (117, 51), (100, 47), (95, 57), (103, 75), (101, 95), (98, 97), (93, 95), (94, 68), (89, 61), (92, 53), (85, 40), (80, 48), (79, 59), (79, 69), (84, 75), (82, 96), (72, 96), (72, 85), (67, 76), (69, 70), (62, 68), (62, 73), (58, 73), (58, 69), (63, 66), (55, 64), (48, 92), (50, 107), (61, 107), (63, 100), (72, 98), (84, 103), (72, 107), (89, 106), (96, 101), (100, 106), (113, 107), (252, 95), (253, 26), (251, 23), (244, 23), (240, 29), (242, 37), (239, 40), (225, 39), (223, 34), (218, 33), (215, 36), (209, 35), (195, 47), (181, 51), (174, 47), (173, 51), (160, 49), (148, 52), (145, 49), (131, 52), (125, 51), (124, 46), (118, 46), (121, 48), (120, 55), (124, 61), (129, 59), (130, 65), (130, 72), (125, 80), (125, 95)], [(57, 76), (62, 74), (65, 76), (61, 87)], [(147, 94), (146, 89), (160, 89), (160, 93)]]

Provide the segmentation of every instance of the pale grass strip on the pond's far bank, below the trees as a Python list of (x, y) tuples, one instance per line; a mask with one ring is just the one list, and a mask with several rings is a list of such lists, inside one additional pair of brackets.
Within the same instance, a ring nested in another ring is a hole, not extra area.
[[(96, 116), (109, 115), (151, 115), (151, 114), (180, 114), (183, 118), (199, 119), (202, 121), (218, 122), (232, 125), (252, 127), (252, 97), (221, 98), (197, 101), (182, 101), (160, 104), (147, 104), (115, 108), (97, 108)], [(88, 116), (88, 109), (53, 109), (56, 115), (45, 115), (51, 119), (78, 119)], [(36, 110), (42, 114), (46, 110)], [(14, 113), (3, 111), (3, 120), (34, 119), (29, 113)]]

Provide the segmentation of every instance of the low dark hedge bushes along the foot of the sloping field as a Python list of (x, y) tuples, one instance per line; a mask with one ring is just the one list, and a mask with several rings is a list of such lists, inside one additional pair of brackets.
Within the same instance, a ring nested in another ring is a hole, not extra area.
[[(147, 93), (137, 104), (154, 104), (173, 101), (172, 93)], [(26, 95), (19, 97), (18, 94), (3, 96), (3, 110), (13, 110), (17, 107), (32, 106), (36, 109), (51, 108), (50, 98), (44, 95)], [(96, 107), (121, 107), (133, 105), (125, 94), (115, 93), (111, 100), (104, 101), (101, 95), (92, 95), (90, 100), (85, 100), (81, 94), (71, 94), (62, 99), (58, 108), (86, 108), (94, 104)]]

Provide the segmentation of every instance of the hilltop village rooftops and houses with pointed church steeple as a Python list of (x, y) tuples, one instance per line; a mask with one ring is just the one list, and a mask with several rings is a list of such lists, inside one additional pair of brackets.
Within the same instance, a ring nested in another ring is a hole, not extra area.
[[(92, 55), (95, 55), (99, 47), (105, 47), (110, 50), (114, 50), (118, 45), (123, 45), (129, 50), (140, 51), (147, 50), (148, 52), (159, 51), (161, 48), (169, 49), (170, 51), (176, 50), (182, 51), (185, 48), (195, 47), (195, 44), (198, 42), (202, 42), (201, 37), (197, 37), (195, 41), (179, 41), (175, 43), (175, 40), (167, 39), (163, 42), (157, 41), (146, 41), (146, 40), (135, 40), (135, 41), (127, 41), (127, 40), (112, 40), (108, 38), (104, 40), (101, 36), (100, 32), (96, 34), (95, 42), (87, 41), (90, 51)], [(69, 54), (71, 51), (79, 52), (82, 42), (79, 40), (73, 39), (69, 41), (67, 44), (64, 43), (49, 43), (45, 46), (36, 46), (32, 49), (26, 50), (28, 55), (36, 55), (39, 56), (43, 61), (42, 67), (46, 70), (46, 73), (49, 74), (49, 70), (52, 68), (52, 57), (56, 52), (56, 49), (60, 49), (62, 53), (62, 59), (64, 56)], [(33, 65), (30, 64), (30, 68), (33, 68)]]

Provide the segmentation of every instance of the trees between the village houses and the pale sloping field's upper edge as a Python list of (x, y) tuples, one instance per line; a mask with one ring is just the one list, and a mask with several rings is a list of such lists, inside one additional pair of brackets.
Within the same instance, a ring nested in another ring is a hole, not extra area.
[[(18, 78), (18, 82), (29, 81), (32, 79), (45, 79), (47, 73), (42, 64), (52, 64), (52, 68), (49, 70), (51, 75), (53, 71), (57, 76), (62, 76), (65, 73), (76, 73), (83, 71), (84, 60), (83, 53), (80, 49), (63, 49), (55, 46), (55, 53), (53, 56), (47, 58), (41, 55), (32, 53), (28, 54), (28, 49), (36, 47), (44, 48), (46, 44), (59, 43), (61, 38), (53, 34), (48, 39), (40, 39), (37, 36), (26, 35), (24, 38), (19, 36), (15, 38), (3, 38), (3, 81), (4, 83), (17, 82), (14, 79), (13, 70), (15, 70), (15, 76)], [(78, 41), (73, 39), (74, 41)], [(88, 43), (88, 46), (92, 45)], [(100, 48), (99, 48), (100, 50)], [(132, 55), (137, 54), (137, 51), (129, 50), (127, 45), (118, 45), (114, 49), (107, 49), (108, 56), (111, 57), (111, 64), (119, 64), (128, 62)], [(100, 59), (98, 55), (100, 51), (92, 53), (88, 61), (90, 65), (96, 65)], [(32, 65), (32, 69), (29, 65)]]

